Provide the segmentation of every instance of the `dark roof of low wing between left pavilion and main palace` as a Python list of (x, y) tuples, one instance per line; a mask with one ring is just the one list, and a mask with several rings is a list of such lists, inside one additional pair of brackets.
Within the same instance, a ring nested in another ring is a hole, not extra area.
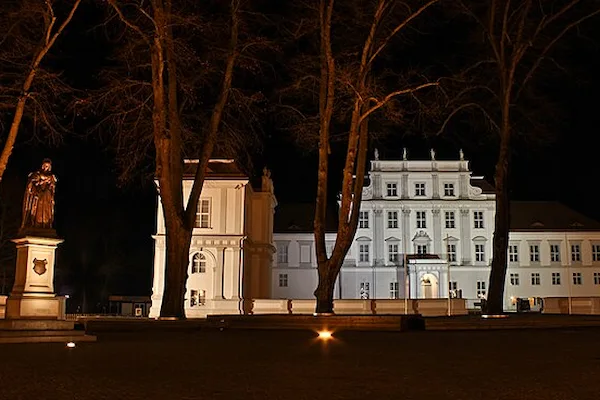
[[(311, 233), (314, 232), (315, 204), (288, 203), (275, 208), (275, 233)], [(328, 207), (325, 232), (337, 232), (337, 209)]]

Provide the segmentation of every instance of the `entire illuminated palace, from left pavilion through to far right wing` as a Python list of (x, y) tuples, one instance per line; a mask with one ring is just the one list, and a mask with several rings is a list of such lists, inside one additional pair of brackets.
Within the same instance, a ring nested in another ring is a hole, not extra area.
[[(359, 226), (335, 298), (487, 296), (492, 259), (493, 188), (458, 160), (370, 162)], [(186, 163), (184, 195), (194, 161)], [(251, 182), (233, 160), (212, 160), (189, 254), (188, 317), (238, 314), (249, 299), (313, 299), (317, 263), (312, 204), (277, 205), (270, 173)], [(331, 251), (337, 210), (328, 213)], [(600, 224), (553, 202), (513, 202), (505, 308), (517, 299), (600, 295)], [(165, 227), (160, 202), (151, 317), (160, 312)]]

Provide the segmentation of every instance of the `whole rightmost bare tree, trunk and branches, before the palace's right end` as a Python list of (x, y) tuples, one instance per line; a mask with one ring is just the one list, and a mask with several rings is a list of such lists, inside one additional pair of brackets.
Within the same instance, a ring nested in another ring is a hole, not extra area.
[[(484, 57), (464, 71), (463, 79), (468, 84), (453, 99), (454, 110), (446, 122), (463, 111), (475, 110), (498, 134), (493, 260), (485, 311), (501, 313), (510, 229), (510, 156), (517, 116), (522, 116), (523, 110), (531, 110), (527, 96), (533, 93), (532, 83), (540, 68), (556, 65), (552, 51), (557, 43), (571, 30), (600, 14), (600, 4), (581, 0), (491, 0), (459, 4), (478, 26)], [(445, 126), (446, 123), (442, 130)]]

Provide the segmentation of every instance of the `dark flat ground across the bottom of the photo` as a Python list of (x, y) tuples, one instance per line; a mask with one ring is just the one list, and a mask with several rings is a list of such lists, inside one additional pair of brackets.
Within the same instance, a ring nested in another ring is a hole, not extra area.
[(0, 345), (0, 399), (598, 399), (600, 329), (101, 334)]

